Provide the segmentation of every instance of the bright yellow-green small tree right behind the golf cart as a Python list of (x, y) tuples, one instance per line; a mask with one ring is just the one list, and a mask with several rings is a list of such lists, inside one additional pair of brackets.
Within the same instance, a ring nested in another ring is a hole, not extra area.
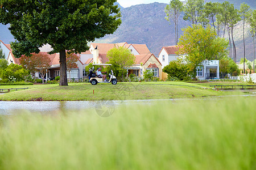
[[(118, 80), (121, 80), (127, 74), (127, 67), (132, 66), (135, 63), (135, 56), (131, 51), (123, 46), (115, 46), (115, 48), (110, 49), (107, 53), (111, 68), (114, 75)], [(110, 67), (107, 67), (110, 71)]]

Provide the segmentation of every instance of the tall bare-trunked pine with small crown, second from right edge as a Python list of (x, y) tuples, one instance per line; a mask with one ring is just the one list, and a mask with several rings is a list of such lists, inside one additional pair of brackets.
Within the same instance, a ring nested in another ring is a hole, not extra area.
[(246, 18), (249, 18), (249, 9), (249, 5), (245, 4), (244, 2), (241, 3), (239, 12), (243, 20), (243, 73), (245, 73), (245, 21)]

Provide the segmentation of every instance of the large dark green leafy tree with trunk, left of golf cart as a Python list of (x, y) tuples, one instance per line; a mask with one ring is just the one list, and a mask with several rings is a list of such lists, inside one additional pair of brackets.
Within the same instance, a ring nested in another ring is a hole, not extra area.
[(121, 24), (116, 0), (1, 0), (0, 23), (10, 24), (15, 57), (39, 53), (44, 44), (60, 53), (60, 86), (67, 86), (65, 51), (81, 53), (87, 43), (113, 33)]

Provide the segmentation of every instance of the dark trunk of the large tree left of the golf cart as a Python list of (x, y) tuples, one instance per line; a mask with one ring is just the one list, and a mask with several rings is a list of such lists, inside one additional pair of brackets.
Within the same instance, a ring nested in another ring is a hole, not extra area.
[(68, 86), (66, 51), (60, 51), (60, 86)]

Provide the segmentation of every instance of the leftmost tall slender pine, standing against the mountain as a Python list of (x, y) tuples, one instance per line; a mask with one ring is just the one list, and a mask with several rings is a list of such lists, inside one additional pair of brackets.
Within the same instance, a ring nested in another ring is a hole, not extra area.
[(165, 8), (166, 12), (166, 20), (168, 22), (173, 21), (174, 27), (175, 27), (175, 44), (177, 45), (177, 41), (179, 39), (179, 33), (178, 33), (178, 19), (180, 16), (180, 13), (183, 11), (183, 3), (179, 0), (171, 0), (170, 5), (167, 5)]

